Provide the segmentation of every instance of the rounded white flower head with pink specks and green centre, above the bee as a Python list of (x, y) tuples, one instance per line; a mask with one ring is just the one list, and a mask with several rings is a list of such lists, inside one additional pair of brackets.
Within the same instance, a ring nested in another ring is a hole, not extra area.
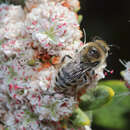
[(48, 49), (51, 54), (59, 44), (65, 47), (81, 38), (75, 14), (53, 2), (32, 9), (27, 14), (25, 25), (27, 33), (32, 36), (35, 44)]

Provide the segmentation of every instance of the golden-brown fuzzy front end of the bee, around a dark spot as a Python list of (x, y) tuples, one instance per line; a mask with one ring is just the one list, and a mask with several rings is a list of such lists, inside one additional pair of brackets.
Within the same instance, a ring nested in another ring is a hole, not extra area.
[(92, 64), (94, 67), (105, 62), (109, 47), (103, 40), (95, 40), (87, 43), (80, 50), (81, 62)]

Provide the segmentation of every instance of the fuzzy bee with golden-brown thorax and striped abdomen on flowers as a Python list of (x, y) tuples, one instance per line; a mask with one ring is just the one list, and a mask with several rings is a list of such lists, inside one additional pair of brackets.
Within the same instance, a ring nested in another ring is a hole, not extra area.
[[(70, 87), (89, 84), (95, 69), (106, 62), (108, 51), (109, 47), (103, 40), (94, 40), (85, 44), (77, 52), (76, 57), (58, 71), (55, 78), (55, 90), (65, 92)], [(71, 58), (68, 55), (66, 57)]]

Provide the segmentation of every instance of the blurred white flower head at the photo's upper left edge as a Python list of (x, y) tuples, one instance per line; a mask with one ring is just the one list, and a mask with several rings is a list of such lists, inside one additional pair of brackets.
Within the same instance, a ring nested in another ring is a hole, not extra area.
[(24, 11), (21, 6), (0, 5), (0, 40), (24, 35)]

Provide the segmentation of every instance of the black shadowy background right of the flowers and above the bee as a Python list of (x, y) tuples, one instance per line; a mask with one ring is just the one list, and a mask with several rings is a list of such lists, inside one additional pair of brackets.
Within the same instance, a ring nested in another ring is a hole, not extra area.
[(108, 44), (120, 47), (111, 48), (107, 59), (108, 69), (115, 72), (107, 79), (121, 79), (120, 71), (125, 67), (119, 59), (130, 60), (130, 2), (129, 0), (80, 0), (83, 15), (81, 29), (85, 29), (87, 41), (99, 36)]

